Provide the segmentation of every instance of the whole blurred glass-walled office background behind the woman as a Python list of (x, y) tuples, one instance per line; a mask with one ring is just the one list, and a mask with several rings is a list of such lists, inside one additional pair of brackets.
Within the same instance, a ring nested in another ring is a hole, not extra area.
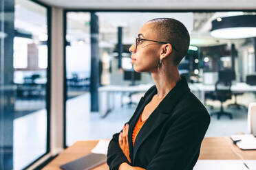
[[(124, 8), (127, 1), (1, 0), (0, 169), (31, 169), (76, 141), (119, 132), (153, 85), (149, 73), (134, 72), (129, 47), (160, 17), (189, 30), (179, 71), (212, 114), (206, 136), (246, 133), (256, 99), (256, 5), (233, 1)], [(221, 93), (217, 82), (225, 82)]]

